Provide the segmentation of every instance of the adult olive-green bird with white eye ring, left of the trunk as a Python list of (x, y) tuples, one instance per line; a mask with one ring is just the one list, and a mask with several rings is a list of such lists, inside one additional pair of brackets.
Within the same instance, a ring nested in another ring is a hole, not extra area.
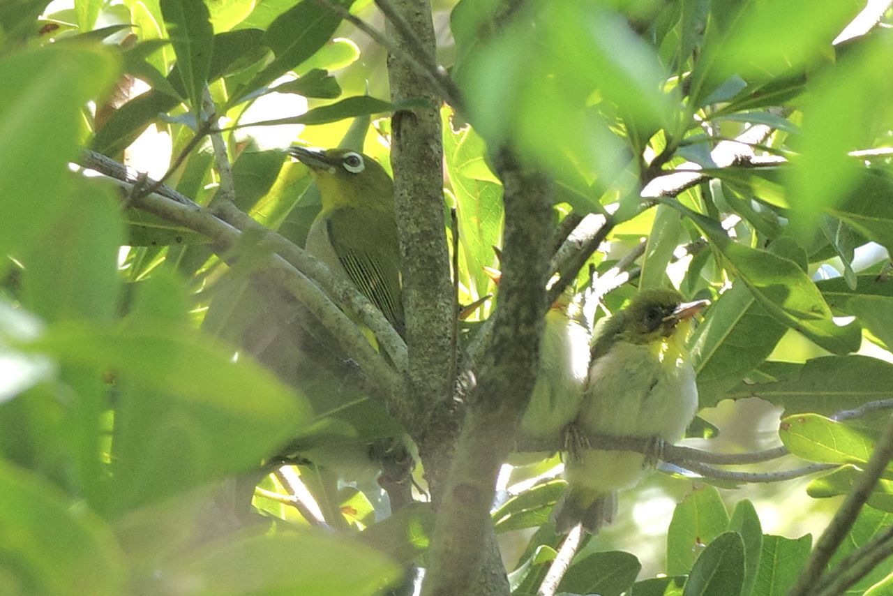
[(369, 155), (348, 149), (288, 147), (313, 173), (322, 209), (306, 249), (345, 276), (404, 332), (394, 183)]

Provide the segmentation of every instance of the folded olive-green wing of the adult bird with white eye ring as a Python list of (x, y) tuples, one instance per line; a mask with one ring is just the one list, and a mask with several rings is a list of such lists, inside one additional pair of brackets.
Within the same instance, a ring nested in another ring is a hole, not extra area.
[(405, 325), (396, 222), (379, 210), (342, 208), (331, 214), (328, 232), (351, 281), (402, 335)]

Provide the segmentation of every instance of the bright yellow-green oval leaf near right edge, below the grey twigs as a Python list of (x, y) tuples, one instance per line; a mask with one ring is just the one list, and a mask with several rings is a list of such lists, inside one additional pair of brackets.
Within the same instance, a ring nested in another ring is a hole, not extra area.
[(779, 437), (797, 457), (827, 464), (864, 464), (874, 448), (872, 437), (817, 414), (782, 418)]

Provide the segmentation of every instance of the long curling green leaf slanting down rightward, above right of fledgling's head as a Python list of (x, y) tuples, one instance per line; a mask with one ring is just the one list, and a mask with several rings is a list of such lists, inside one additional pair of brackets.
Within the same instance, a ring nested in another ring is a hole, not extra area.
[(754, 298), (780, 323), (835, 354), (859, 348), (862, 335), (855, 324), (838, 326), (829, 306), (797, 263), (771, 252), (734, 242), (718, 222), (676, 201), (666, 201), (689, 216), (720, 251), (730, 270), (747, 284)]

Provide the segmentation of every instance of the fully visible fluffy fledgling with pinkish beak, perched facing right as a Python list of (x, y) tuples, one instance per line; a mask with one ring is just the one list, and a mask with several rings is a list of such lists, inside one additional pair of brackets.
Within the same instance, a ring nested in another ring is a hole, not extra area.
[(695, 371), (685, 349), (690, 320), (705, 301), (683, 302), (676, 290), (644, 290), (597, 333), (580, 413), (572, 433), (568, 483), (555, 507), (558, 533), (581, 524), (589, 533), (613, 520), (616, 491), (638, 483), (645, 456), (587, 449), (585, 436), (613, 435), (679, 441), (697, 411)]

